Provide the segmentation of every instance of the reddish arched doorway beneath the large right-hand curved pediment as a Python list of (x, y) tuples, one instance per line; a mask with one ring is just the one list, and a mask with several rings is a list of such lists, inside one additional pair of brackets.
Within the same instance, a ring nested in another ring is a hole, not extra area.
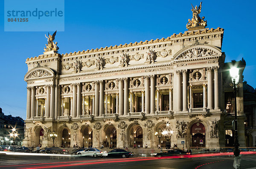
[(190, 146), (205, 147), (205, 127), (202, 123), (195, 123), (191, 127)]

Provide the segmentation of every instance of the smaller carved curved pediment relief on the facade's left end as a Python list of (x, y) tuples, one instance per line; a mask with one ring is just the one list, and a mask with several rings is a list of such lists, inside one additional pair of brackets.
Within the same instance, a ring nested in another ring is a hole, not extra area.
[(25, 80), (26, 79), (32, 79), (32, 78), (38, 78), (38, 77), (49, 77), (53, 76), (53, 71), (52, 70), (47, 70), (45, 68), (36, 68), (32, 69), (31, 71), (27, 72), (25, 75)]

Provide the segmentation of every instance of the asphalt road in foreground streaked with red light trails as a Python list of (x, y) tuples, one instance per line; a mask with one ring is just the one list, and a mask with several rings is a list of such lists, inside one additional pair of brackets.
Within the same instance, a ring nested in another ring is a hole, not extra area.
[[(0, 157), (4, 169), (233, 169), (233, 157), (183, 159), (90, 158), (49, 159), (49, 157)], [(242, 156), (241, 169), (256, 169), (256, 155)]]

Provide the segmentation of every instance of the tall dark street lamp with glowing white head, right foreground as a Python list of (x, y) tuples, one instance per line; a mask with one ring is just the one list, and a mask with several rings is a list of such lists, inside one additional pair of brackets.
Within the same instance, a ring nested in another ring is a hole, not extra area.
[[(234, 103), (234, 106), (235, 106), (235, 143), (234, 143), (234, 164), (236, 164), (236, 166), (238, 165), (240, 168), (240, 158), (239, 158), (239, 155), (240, 155), (240, 151), (239, 151), (239, 142), (238, 142), (238, 129), (237, 129), (237, 110), (236, 110), (236, 85), (239, 83), (239, 69), (236, 68), (236, 67), (232, 67), (230, 69), (230, 77), (232, 79), (232, 82), (233, 82), (233, 92), (234, 92), (234, 97), (235, 97), (235, 103)], [(233, 164), (233, 166), (234, 166)]]

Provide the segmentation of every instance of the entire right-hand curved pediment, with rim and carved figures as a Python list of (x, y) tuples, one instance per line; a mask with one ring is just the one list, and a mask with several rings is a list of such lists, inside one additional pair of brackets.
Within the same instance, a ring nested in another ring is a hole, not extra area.
[(216, 47), (207, 46), (207, 45), (196, 45), (189, 46), (185, 49), (182, 49), (180, 52), (175, 54), (174, 60), (187, 60), (194, 59), (198, 57), (211, 57), (221, 55), (221, 51)]

